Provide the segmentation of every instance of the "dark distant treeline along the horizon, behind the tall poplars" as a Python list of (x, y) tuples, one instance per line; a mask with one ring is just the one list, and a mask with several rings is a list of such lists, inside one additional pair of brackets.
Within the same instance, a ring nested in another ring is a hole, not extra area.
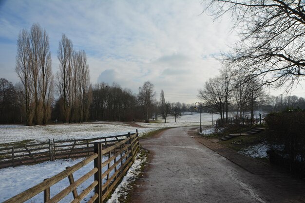
[[(26, 123), (25, 106), (20, 83), (13, 84), (5, 78), (0, 78), (0, 123)], [(145, 112), (139, 101), (138, 94), (130, 89), (124, 89), (116, 83), (97, 83), (91, 88), (92, 101), (88, 110), (88, 117), (84, 121), (144, 121)], [(165, 94), (166, 95), (166, 94)], [(61, 112), (62, 98), (54, 99), (50, 108), (50, 116), (47, 123), (64, 122)], [(180, 115), (183, 112), (198, 112), (194, 109), (194, 103), (185, 104), (175, 102), (172, 107), (178, 109)], [(283, 111), (288, 108), (305, 109), (305, 98), (298, 96), (267, 96), (264, 101), (258, 102), (255, 109), (260, 111)], [(202, 108), (202, 112), (211, 112), (210, 108)], [(236, 107), (229, 106), (229, 111), (236, 111)], [(216, 111), (213, 111), (216, 112)], [(161, 101), (152, 100), (149, 108), (149, 118), (155, 119), (162, 116)], [(71, 117), (72, 118), (72, 117)], [(164, 117), (163, 117), (164, 118)], [(83, 121), (68, 120), (68, 123)]]

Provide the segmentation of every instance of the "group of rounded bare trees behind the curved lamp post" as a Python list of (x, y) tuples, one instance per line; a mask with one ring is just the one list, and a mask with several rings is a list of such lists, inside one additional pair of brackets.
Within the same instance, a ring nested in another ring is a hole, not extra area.
[(226, 118), (227, 122), (229, 107), (238, 111), (239, 119), (243, 119), (245, 112), (250, 111), (252, 122), (254, 107), (263, 100), (265, 93), (254, 78), (245, 82), (239, 73), (225, 67), (218, 76), (206, 81), (204, 88), (199, 90), (198, 97), (205, 106), (218, 112), (221, 119)]

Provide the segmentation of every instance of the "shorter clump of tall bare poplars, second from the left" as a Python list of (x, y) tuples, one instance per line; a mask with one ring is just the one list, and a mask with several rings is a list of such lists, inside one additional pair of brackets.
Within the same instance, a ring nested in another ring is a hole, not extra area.
[(85, 51), (75, 51), (65, 34), (57, 50), (59, 70), (56, 74), (57, 91), (63, 122), (84, 122), (89, 118), (92, 101), (89, 65)]

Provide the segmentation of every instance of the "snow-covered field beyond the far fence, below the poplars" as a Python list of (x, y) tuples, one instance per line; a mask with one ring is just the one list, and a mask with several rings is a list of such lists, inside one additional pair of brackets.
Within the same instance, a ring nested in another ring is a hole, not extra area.
[[(213, 119), (217, 119), (219, 115), (214, 114)], [(22, 140), (48, 141), (48, 139), (65, 140), (65, 139), (85, 139), (94, 137), (105, 137), (112, 135), (127, 134), (135, 132), (138, 129), (141, 133), (152, 131), (155, 129), (179, 126), (199, 126), (199, 113), (192, 115), (183, 115), (177, 118), (169, 116), (164, 123), (158, 120), (158, 123), (135, 123), (142, 128), (131, 127), (122, 122), (94, 122), (82, 124), (57, 124), (47, 126), (23, 126), (23, 125), (0, 125), (0, 143), (11, 143)], [(210, 125), (212, 114), (201, 114), (201, 125)], [(161, 122), (161, 123), (159, 123)]]

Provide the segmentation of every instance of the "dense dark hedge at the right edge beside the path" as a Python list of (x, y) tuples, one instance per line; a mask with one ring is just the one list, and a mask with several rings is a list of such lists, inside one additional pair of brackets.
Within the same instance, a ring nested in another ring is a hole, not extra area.
[(268, 125), (269, 160), (292, 172), (305, 174), (305, 112), (287, 110), (270, 113)]

